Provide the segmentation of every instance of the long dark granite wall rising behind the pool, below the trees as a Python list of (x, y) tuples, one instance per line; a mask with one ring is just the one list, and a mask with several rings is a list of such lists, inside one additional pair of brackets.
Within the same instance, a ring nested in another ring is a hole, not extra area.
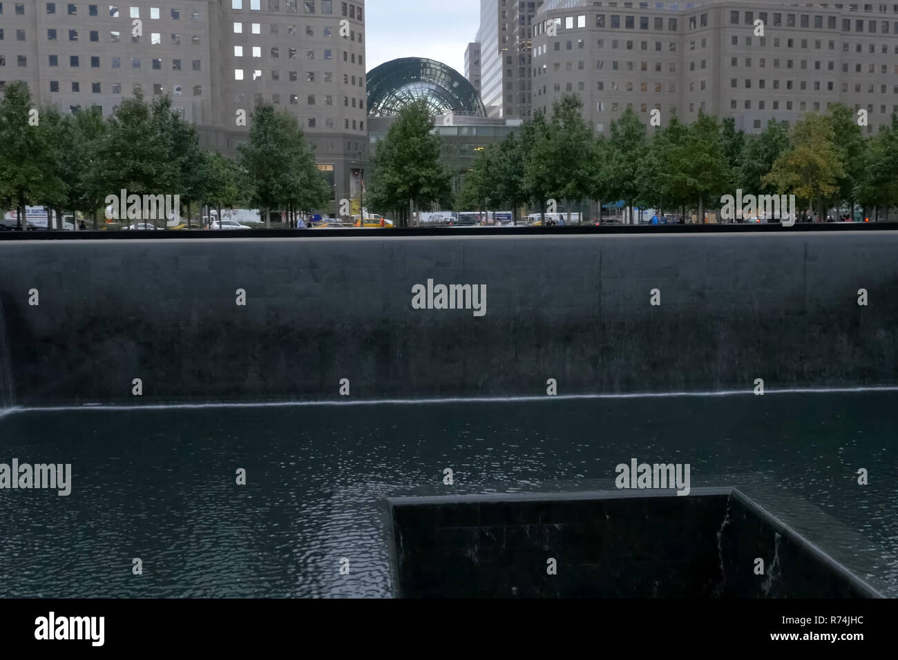
[[(894, 385), (896, 254), (886, 232), (0, 242), (0, 302), (17, 405), (136, 402), (134, 378), (143, 402)], [(486, 315), (412, 309), (428, 277), (486, 285)]]

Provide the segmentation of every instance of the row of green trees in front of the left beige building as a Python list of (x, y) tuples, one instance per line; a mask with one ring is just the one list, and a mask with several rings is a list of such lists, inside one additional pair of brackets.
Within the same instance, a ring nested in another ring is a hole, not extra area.
[[(199, 146), (196, 128), (172, 108), (168, 96), (146, 101), (139, 92), (103, 118), (80, 111), (63, 114), (55, 106), (31, 108), (22, 82), (7, 84), (0, 100), (0, 208), (26, 205), (93, 218), (105, 198), (180, 195), (188, 217), (194, 204), (251, 207), (295, 213), (327, 205), (330, 186), (314, 163), (296, 118), (271, 105), (251, 115), (249, 140), (236, 161)], [(61, 225), (60, 225), (61, 226)]]

